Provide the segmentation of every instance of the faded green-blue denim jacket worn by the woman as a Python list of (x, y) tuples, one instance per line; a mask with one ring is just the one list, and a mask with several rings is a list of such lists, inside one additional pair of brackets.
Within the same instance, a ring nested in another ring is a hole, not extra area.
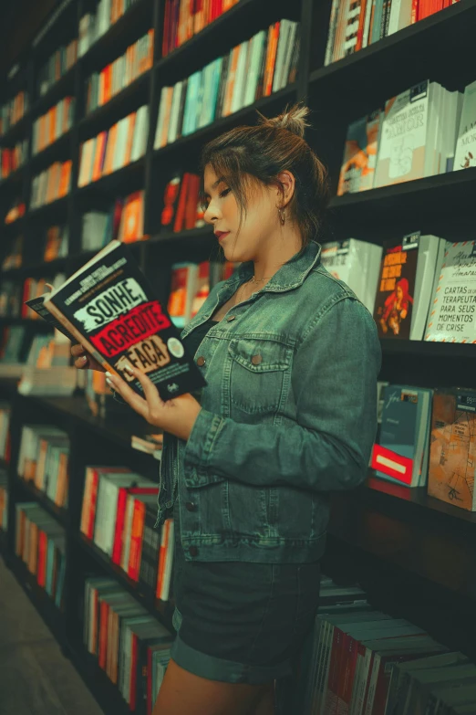
[[(184, 338), (253, 275), (212, 290)], [(322, 556), (329, 494), (367, 475), (381, 352), (372, 316), (312, 242), (213, 326), (194, 356), (207, 386), (189, 439), (164, 435), (156, 526), (179, 499), (188, 561)]]

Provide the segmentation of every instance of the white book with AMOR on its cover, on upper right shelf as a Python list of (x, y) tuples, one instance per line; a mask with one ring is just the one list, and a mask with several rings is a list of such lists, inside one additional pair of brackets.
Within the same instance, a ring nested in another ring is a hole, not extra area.
[(440, 85), (424, 81), (386, 103), (374, 188), (421, 179), (436, 165)]

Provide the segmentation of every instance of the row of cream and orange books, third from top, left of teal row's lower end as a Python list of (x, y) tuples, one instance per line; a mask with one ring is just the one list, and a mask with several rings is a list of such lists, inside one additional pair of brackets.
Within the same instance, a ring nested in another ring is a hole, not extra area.
[(114, 124), (109, 131), (81, 144), (78, 186), (115, 172), (144, 155), (149, 133), (149, 107), (144, 105)]

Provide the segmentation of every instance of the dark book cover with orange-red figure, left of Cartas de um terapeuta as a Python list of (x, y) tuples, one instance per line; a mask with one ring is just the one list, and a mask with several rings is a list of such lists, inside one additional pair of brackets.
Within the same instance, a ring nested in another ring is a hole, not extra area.
[(374, 310), (380, 338), (409, 340), (418, 261), (411, 246), (404, 238), (384, 249)]

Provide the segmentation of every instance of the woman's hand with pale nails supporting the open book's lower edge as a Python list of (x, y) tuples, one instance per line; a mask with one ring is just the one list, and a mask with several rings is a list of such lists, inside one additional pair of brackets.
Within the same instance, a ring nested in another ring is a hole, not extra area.
[(129, 368), (129, 365), (126, 369), (139, 380), (144, 390), (144, 397), (134, 392), (121, 377), (106, 373), (109, 387), (119, 393), (122, 399), (150, 425), (187, 440), (202, 409), (196, 399), (191, 394), (181, 394), (164, 402), (157, 387), (146, 374), (136, 368)]

